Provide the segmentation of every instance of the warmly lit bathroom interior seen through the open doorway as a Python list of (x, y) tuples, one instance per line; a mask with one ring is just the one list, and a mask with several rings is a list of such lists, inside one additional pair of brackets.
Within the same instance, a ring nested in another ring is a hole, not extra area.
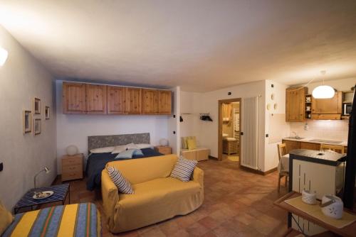
[(240, 154), (240, 102), (221, 105), (222, 158), (239, 162)]

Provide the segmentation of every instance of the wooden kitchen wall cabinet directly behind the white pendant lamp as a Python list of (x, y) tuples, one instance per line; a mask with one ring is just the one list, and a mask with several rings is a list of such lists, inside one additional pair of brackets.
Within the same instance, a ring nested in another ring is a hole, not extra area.
[(342, 92), (335, 92), (331, 99), (312, 97), (312, 119), (341, 119)]

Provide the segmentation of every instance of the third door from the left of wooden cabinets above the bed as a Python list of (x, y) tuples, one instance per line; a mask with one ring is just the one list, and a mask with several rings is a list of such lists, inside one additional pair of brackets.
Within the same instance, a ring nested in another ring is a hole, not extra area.
[(108, 114), (125, 114), (126, 87), (108, 86)]

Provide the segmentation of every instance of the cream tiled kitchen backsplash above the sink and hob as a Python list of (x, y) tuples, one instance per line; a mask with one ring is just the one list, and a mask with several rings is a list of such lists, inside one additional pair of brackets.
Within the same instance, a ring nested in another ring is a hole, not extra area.
[(308, 131), (304, 130), (305, 123), (290, 123), (290, 132), (295, 131), (303, 138), (321, 138), (347, 141), (348, 120), (310, 120)]

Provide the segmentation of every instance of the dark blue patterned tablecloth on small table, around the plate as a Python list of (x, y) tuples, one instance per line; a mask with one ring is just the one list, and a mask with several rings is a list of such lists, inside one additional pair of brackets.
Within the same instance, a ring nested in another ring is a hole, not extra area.
[(20, 199), (19, 202), (16, 203), (14, 209), (23, 208), (26, 206), (35, 206), (39, 204), (45, 204), (48, 202), (63, 202), (66, 199), (68, 194), (69, 184), (58, 184), (53, 185), (51, 187), (40, 187), (36, 189), (36, 192), (43, 192), (43, 191), (53, 191), (53, 195), (46, 199), (33, 199), (33, 194), (35, 189), (29, 190), (23, 197)]

